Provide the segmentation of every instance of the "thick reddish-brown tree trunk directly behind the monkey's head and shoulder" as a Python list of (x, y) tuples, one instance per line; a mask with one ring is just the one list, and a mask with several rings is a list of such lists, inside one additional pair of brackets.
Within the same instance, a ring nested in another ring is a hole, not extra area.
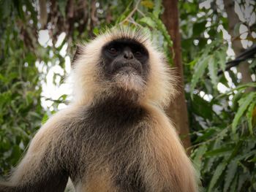
[(173, 50), (170, 49), (170, 51), (174, 51), (174, 70), (176, 70), (179, 82), (178, 95), (167, 108), (167, 114), (170, 116), (171, 120), (173, 120), (173, 123), (175, 123), (184, 147), (188, 148), (191, 146), (191, 142), (189, 137), (187, 104), (184, 94), (183, 66), (181, 62), (181, 35), (178, 27), (178, 0), (164, 0), (163, 6), (165, 7), (165, 12), (162, 15), (162, 20), (163, 23), (165, 23), (171, 39), (173, 40)]

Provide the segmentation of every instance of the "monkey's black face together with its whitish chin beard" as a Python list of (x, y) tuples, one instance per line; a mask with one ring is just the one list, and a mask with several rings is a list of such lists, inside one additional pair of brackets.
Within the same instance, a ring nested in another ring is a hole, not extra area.
[(113, 85), (141, 91), (148, 76), (148, 50), (134, 39), (115, 39), (102, 47), (102, 69)]

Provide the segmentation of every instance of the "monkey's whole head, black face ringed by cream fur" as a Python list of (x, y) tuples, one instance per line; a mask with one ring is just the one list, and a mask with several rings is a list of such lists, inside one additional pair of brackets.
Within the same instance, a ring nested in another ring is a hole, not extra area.
[(176, 92), (165, 57), (140, 30), (115, 28), (80, 45), (73, 68), (78, 103), (113, 97), (164, 106)]

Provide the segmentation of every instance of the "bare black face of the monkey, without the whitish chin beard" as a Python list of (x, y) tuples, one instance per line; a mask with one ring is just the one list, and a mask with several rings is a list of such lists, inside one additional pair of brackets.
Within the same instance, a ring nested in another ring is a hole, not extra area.
[(109, 77), (121, 73), (148, 74), (148, 50), (132, 39), (116, 39), (102, 48), (105, 74)]

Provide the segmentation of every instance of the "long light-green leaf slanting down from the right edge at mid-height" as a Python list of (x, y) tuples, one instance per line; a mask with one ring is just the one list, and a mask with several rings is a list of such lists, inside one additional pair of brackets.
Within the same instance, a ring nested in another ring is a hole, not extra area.
[(239, 102), (238, 112), (236, 112), (235, 118), (232, 123), (233, 133), (236, 133), (236, 128), (241, 116), (244, 115), (244, 112), (246, 111), (249, 104), (251, 104), (251, 102), (255, 99), (255, 96), (256, 96), (256, 93), (252, 92), (252, 93), (249, 93), (246, 97), (241, 98), (238, 101)]

